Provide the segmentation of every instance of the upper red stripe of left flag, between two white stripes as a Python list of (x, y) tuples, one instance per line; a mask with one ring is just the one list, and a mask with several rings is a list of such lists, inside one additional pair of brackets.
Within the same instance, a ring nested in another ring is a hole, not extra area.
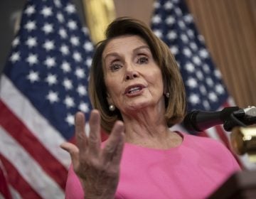
[[(31, 134), (26, 126), (0, 100), (0, 124), (23, 146), (48, 175), (65, 190), (67, 169)], [(33, 169), (33, 168), (31, 168)]]

